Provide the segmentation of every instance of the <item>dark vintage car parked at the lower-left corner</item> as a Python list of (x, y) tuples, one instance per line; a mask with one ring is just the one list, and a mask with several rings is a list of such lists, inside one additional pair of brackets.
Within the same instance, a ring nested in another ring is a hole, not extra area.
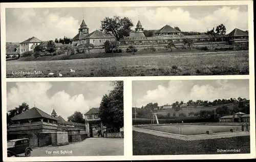
[(29, 138), (21, 138), (7, 141), (7, 157), (18, 156), (25, 153), (25, 156), (31, 155), (32, 149), (29, 147)]

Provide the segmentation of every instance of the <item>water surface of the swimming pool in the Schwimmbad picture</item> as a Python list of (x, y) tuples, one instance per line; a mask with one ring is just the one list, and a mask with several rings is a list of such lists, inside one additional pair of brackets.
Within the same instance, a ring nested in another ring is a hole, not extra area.
[[(212, 130), (214, 133), (229, 132), (231, 128), (241, 130), (242, 126), (238, 125), (180, 125), (182, 135), (206, 134), (207, 130)], [(139, 128), (151, 129), (161, 132), (179, 134), (179, 129), (176, 126), (141, 126)]]

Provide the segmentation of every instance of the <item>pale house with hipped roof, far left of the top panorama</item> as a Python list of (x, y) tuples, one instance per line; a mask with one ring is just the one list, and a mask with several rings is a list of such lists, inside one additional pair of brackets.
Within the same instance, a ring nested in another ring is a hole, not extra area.
[(34, 51), (34, 48), (41, 42), (42, 41), (36, 37), (32, 37), (19, 43), (19, 54), (22, 55), (24, 52)]

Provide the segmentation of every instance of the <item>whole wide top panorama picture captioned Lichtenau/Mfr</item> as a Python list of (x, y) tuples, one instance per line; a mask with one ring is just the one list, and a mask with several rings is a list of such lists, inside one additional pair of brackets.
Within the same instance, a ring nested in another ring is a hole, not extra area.
[(247, 5), (6, 8), (6, 77), (248, 75), (248, 36)]

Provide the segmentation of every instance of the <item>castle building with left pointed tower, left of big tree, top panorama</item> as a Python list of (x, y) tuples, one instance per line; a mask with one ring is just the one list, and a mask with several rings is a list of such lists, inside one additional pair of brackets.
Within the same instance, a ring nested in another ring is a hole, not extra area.
[(78, 29), (78, 34), (71, 40), (73, 46), (80, 44), (91, 43), (95, 46), (103, 45), (106, 40), (114, 40), (115, 37), (110, 34), (105, 34), (99, 30), (89, 34), (89, 28), (86, 25), (84, 19)]

